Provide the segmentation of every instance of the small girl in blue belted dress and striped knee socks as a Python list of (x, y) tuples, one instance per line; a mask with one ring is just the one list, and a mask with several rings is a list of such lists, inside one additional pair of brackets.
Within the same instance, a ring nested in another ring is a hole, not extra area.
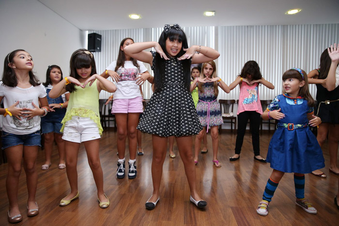
[(278, 183), (284, 173), (294, 173), (296, 204), (308, 213), (317, 213), (305, 199), (305, 173), (323, 168), (323, 152), (316, 137), (308, 129), (318, 126), (319, 117), (313, 114), (314, 100), (308, 91), (305, 71), (292, 68), (282, 75), (284, 94), (278, 95), (262, 113), (262, 119), (278, 120), (277, 130), (268, 147), (266, 161), (271, 163), (273, 172), (267, 181), (257, 213), (268, 214)]

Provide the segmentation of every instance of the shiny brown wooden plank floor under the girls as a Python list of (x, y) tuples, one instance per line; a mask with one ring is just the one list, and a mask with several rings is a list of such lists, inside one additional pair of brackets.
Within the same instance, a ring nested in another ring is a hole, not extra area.
[[(266, 156), (271, 136), (268, 133), (261, 135), (262, 156)], [(80, 146), (77, 166), (80, 196), (66, 207), (58, 205), (70, 189), (66, 171), (58, 169), (57, 151), (53, 151), (51, 167), (43, 171), (40, 168), (44, 163), (44, 152), (39, 150), (36, 201), (40, 213), (32, 218), (26, 215), (27, 188), (23, 170), (18, 197), (24, 219), (17, 225), (338, 225), (339, 210), (333, 202), (338, 191), (338, 177), (328, 172), (327, 143), (323, 147), (327, 178), (306, 175), (305, 195), (318, 213), (309, 214), (295, 205), (293, 174), (286, 174), (270, 203), (269, 214), (260, 216), (256, 207), (272, 169), (269, 164), (254, 162), (249, 133), (246, 133), (240, 160), (231, 163), (229, 157), (234, 152), (235, 137), (231, 132), (223, 132), (219, 136), (218, 159), (222, 167), (216, 168), (212, 164), (212, 142), (208, 135), (209, 151), (200, 154), (196, 166), (198, 189), (208, 203), (202, 210), (189, 201), (188, 183), (176, 144), (174, 152), (177, 157), (170, 159), (167, 155), (165, 160), (160, 201), (153, 211), (145, 209), (145, 202), (153, 190), (150, 135), (142, 135), (145, 154), (137, 156), (138, 177), (128, 180), (127, 176), (124, 179), (115, 178), (118, 159), (116, 132), (104, 132), (100, 158), (105, 193), (110, 200), (108, 209), (99, 208), (96, 187), (83, 145)], [(0, 165), (0, 225), (10, 225), (7, 222), (6, 173), (7, 164)]]

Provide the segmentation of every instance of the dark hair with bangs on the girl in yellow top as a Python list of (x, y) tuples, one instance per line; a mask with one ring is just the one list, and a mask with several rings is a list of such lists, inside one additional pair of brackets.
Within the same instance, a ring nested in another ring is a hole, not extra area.
[[(77, 69), (80, 68), (90, 68), (92, 66), (91, 76), (96, 74), (95, 60), (93, 54), (87, 49), (76, 50), (71, 56), (69, 66), (70, 76), (77, 79), (81, 78), (81, 76), (77, 74)], [(70, 83), (66, 86), (66, 90), (69, 92), (74, 92), (77, 89), (74, 83)]]

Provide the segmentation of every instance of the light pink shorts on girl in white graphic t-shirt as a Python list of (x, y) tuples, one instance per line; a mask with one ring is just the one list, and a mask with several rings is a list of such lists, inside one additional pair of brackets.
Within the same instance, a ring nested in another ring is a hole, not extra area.
[(142, 97), (132, 99), (113, 100), (112, 114), (115, 113), (142, 113)]

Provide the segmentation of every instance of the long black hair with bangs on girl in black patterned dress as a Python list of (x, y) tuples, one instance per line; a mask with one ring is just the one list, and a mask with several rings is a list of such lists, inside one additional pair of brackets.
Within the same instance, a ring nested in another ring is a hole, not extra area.
[[(180, 52), (175, 56), (175, 58), (181, 57), (185, 54), (184, 48), (188, 48), (187, 44), (187, 38), (185, 35), (185, 32), (178, 29), (170, 29), (167, 32), (165, 30), (161, 33), (159, 38), (159, 45), (161, 46), (164, 53), (170, 57), (168, 52), (166, 51), (166, 40), (169, 39), (170, 41), (178, 40), (180, 43), (182, 43), (182, 48), (180, 49)], [(190, 67), (191, 67), (191, 59), (185, 59), (181, 60), (182, 67), (184, 70), (184, 82), (186, 89), (189, 91), (190, 89), (190, 81), (191, 81), (191, 73), (190, 73)], [(158, 53), (155, 54), (154, 58), (155, 63), (155, 70), (154, 70), (154, 84), (155, 84), (155, 92), (158, 92), (162, 90), (164, 86), (165, 81), (165, 60), (160, 57)]]

